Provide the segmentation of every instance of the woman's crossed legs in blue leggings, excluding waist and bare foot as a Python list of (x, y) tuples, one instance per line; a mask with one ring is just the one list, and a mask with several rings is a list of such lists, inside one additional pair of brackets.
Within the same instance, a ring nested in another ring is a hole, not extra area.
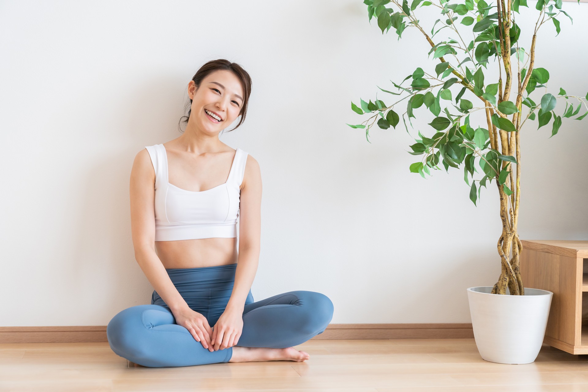
[[(245, 304), (243, 331), (236, 346), (296, 346), (323, 333), (332, 317), (333, 303), (324, 294), (305, 290), (277, 294)], [(233, 353), (233, 347), (212, 352), (205, 349), (175, 323), (168, 307), (160, 305), (137, 305), (120, 311), (108, 323), (106, 336), (118, 356), (148, 367), (228, 362)]]

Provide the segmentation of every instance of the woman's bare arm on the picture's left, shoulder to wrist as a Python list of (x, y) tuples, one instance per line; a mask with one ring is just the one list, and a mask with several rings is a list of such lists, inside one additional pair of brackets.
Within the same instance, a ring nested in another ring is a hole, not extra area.
[(149, 283), (174, 312), (188, 307), (155, 252), (155, 169), (142, 149), (131, 169), (131, 232), (135, 259)]

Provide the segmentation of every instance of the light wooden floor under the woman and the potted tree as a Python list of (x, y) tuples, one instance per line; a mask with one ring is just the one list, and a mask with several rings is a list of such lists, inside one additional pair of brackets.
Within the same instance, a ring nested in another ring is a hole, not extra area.
[(309, 340), (296, 348), (310, 360), (148, 368), (129, 367), (108, 343), (5, 343), (0, 391), (588, 391), (588, 356), (545, 345), (524, 365), (483, 360), (473, 339)]

